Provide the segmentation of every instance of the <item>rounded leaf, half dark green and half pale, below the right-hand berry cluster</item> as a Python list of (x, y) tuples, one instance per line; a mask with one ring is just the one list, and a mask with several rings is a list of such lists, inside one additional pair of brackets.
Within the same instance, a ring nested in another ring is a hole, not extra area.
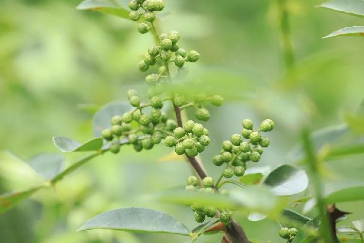
[(269, 173), (263, 183), (270, 186), (276, 195), (294, 195), (306, 190), (308, 177), (304, 170), (283, 164)]

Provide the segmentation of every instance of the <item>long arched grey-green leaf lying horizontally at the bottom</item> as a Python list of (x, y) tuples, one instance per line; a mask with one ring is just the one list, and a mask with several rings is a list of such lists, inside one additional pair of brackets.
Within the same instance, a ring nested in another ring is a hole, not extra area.
[(96, 228), (181, 235), (190, 233), (187, 227), (170, 215), (145, 208), (124, 208), (103, 212), (90, 219), (78, 231)]

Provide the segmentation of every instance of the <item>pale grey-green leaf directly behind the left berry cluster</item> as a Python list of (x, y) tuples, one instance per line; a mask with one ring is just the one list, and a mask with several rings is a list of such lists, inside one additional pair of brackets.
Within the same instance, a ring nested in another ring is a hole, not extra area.
[(122, 115), (131, 110), (131, 105), (127, 102), (110, 102), (94, 115), (92, 119), (92, 131), (95, 137), (101, 137), (101, 131), (111, 128), (111, 118), (114, 115)]

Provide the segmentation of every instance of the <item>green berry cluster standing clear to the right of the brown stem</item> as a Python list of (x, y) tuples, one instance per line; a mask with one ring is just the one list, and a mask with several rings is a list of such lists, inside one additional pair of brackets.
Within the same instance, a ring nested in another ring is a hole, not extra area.
[[(233, 175), (241, 177), (247, 169), (248, 161), (258, 162), (263, 154), (263, 148), (270, 144), (269, 139), (261, 136), (260, 132), (271, 131), (273, 128), (274, 122), (265, 119), (259, 130), (253, 130), (253, 122), (244, 119), (242, 135), (233, 134), (230, 141), (224, 141), (221, 153), (213, 158), (213, 163), (217, 166), (227, 163), (222, 176), (225, 178), (231, 178)], [(243, 141), (243, 138), (248, 141)], [(253, 146), (251, 147), (251, 145)]]

